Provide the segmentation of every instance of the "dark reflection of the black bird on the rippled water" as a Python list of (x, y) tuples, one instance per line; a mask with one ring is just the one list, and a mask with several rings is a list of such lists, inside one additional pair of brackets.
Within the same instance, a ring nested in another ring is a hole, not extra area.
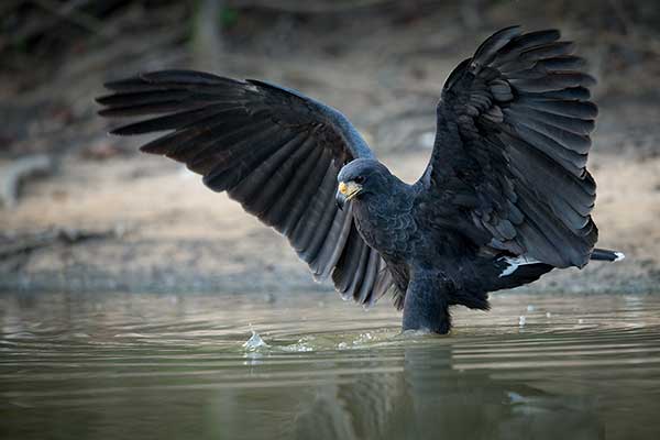
[(594, 397), (451, 367), (451, 346), (403, 349), (398, 373), (326, 384), (294, 419), (299, 439), (601, 439)]

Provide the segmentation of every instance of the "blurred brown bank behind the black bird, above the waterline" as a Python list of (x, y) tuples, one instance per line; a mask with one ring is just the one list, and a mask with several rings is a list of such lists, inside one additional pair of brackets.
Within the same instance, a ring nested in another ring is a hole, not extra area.
[[(558, 28), (598, 78), (590, 169), (600, 245), (627, 260), (530, 289), (660, 282), (660, 3), (654, 0), (6, 0), (0, 6), (0, 289), (278, 292), (317, 285), (286, 241), (162, 157), (110, 138), (103, 81), (197, 68), (344, 112), (408, 182), (447, 75), (499, 28)], [(578, 276), (579, 275), (579, 276)]]

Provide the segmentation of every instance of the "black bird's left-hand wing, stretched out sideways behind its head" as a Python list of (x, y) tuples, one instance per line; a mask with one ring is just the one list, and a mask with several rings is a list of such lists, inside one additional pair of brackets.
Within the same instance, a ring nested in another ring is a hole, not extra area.
[(371, 304), (392, 284), (385, 262), (334, 204), (337, 175), (373, 154), (337, 110), (275, 85), (190, 70), (163, 70), (108, 82), (105, 117), (150, 119), (113, 134), (169, 131), (146, 153), (183, 162), (215, 191), (227, 191), (275, 228), (311, 268), (330, 274), (345, 297)]

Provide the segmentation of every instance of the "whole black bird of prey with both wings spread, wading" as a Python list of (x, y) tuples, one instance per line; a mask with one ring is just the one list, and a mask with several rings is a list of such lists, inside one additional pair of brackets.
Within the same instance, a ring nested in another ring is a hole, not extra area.
[(414, 185), (340, 112), (268, 82), (164, 70), (109, 82), (98, 102), (107, 117), (160, 114), (112, 133), (168, 131), (141, 150), (228, 191), (342, 296), (392, 292), (404, 329), (446, 333), (449, 306), (487, 309), (488, 292), (623, 257), (594, 249), (594, 79), (559, 37), (507, 28), (451, 73)]

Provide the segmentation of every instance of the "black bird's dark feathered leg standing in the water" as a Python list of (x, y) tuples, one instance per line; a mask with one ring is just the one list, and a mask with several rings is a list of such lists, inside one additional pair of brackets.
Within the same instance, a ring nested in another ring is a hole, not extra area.
[(408, 285), (404, 301), (405, 330), (424, 330), (433, 333), (449, 333), (449, 290), (447, 284), (436, 277), (414, 276)]

